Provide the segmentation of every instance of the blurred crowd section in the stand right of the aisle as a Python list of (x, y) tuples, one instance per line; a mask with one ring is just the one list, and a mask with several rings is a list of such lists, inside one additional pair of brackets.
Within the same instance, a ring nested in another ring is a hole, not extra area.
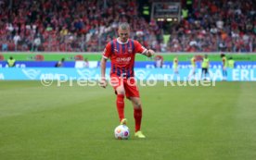
[[(171, 29), (171, 52), (256, 52), (252, 0), (200, 0)], [(185, 7), (186, 9), (186, 7)]]

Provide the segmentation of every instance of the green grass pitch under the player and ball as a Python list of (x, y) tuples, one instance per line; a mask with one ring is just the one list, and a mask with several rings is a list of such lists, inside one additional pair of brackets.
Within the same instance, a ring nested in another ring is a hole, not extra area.
[(0, 81), (1, 160), (252, 160), (256, 157), (256, 83), (215, 87), (139, 87), (145, 140), (114, 139), (119, 124), (111, 87), (44, 87)]

